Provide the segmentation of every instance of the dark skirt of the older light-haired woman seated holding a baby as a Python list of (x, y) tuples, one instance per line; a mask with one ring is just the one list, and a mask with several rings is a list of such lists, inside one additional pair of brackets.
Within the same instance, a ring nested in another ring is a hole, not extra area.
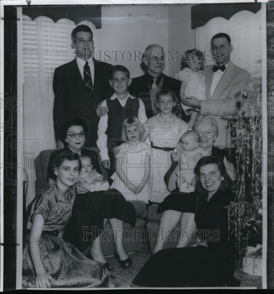
[(158, 206), (157, 213), (166, 210), (195, 213), (196, 192), (182, 193), (179, 189), (170, 193)]

